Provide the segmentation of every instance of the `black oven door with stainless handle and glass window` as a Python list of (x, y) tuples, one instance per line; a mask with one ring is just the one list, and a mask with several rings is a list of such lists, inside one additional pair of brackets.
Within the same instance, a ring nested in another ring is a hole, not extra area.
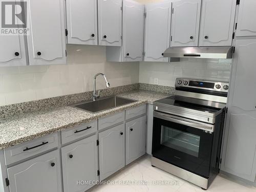
[(209, 177), (214, 125), (154, 112), (152, 155)]

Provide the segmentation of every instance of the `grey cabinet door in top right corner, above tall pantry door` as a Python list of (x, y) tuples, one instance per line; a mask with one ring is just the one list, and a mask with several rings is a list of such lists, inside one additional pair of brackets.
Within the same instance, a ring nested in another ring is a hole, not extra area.
[(237, 36), (256, 36), (256, 1), (240, 1)]

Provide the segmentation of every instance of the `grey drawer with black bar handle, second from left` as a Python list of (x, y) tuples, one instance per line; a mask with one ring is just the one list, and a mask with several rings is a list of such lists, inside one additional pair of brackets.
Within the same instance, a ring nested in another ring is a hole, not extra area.
[(74, 141), (97, 131), (97, 121), (82, 123), (61, 132), (62, 144)]

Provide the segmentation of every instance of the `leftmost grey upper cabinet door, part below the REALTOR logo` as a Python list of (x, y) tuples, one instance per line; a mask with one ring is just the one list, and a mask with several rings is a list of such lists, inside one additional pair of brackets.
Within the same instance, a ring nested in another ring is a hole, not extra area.
[(26, 66), (24, 36), (0, 35), (0, 67)]

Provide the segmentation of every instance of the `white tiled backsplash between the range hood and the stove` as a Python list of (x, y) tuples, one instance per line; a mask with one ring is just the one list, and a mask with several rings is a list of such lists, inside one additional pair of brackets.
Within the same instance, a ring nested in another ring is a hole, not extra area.
[(142, 83), (174, 87), (177, 77), (228, 81), (232, 59), (181, 59), (181, 62), (140, 62)]

